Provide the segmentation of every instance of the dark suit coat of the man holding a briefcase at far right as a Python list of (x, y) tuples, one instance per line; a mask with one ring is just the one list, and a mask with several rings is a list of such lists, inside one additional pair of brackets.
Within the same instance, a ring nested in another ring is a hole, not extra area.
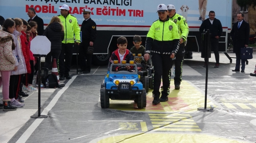
[(245, 20), (243, 20), (240, 28), (238, 29), (238, 22), (234, 23), (232, 30), (230, 32), (233, 45), (233, 53), (240, 53), (240, 48), (249, 45), (249, 34), (250, 26)]

